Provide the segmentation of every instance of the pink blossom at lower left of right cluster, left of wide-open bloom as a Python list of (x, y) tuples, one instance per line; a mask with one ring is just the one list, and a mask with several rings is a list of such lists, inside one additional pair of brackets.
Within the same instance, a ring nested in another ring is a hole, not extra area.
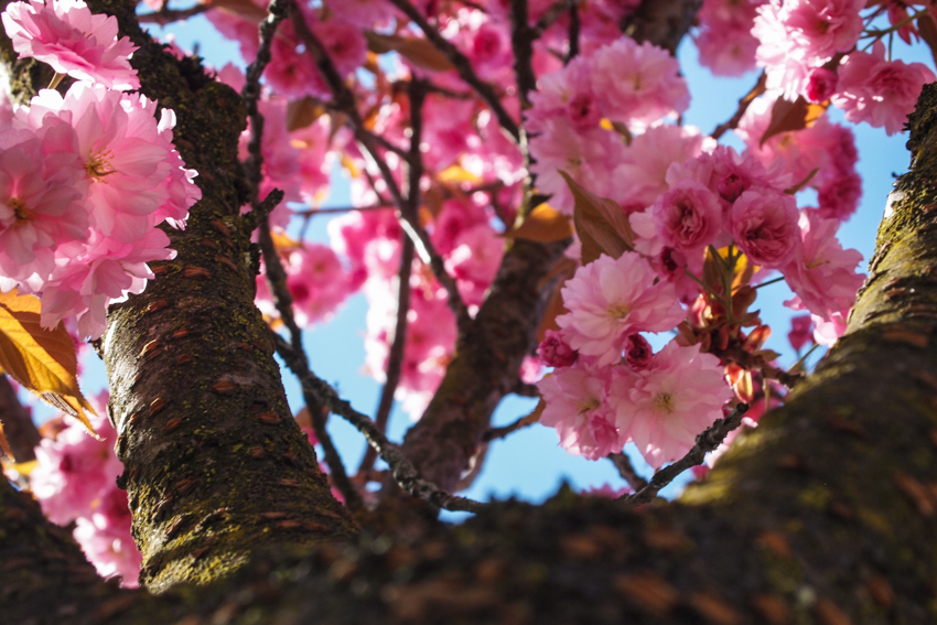
[(537, 382), (547, 403), (540, 423), (556, 428), (560, 445), (571, 454), (599, 460), (622, 451), (627, 433), (608, 403), (610, 380), (608, 369), (572, 366)]

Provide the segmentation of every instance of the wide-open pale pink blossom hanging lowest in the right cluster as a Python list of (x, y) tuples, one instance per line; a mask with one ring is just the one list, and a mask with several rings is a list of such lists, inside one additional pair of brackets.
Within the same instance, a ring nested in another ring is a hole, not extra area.
[(697, 434), (722, 417), (732, 396), (719, 358), (676, 340), (649, 368), (621, 378), (610, 391), (618, 427), (629, 424), (632, 440), (654, 468), (688, 452)]

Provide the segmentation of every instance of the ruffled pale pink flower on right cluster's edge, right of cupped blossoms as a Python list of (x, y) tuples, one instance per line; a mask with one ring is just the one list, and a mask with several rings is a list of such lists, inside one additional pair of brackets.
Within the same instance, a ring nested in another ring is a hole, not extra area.
[(826, 321), (848, 310), (855, 301), (863, 276), (855, 272), (862, 255), (842, 249), (836, 231), (839, 222), (821, 219), (812, 212), (800, 214), (801, 244), (782, 273), (796, 298), (784, 302), (794, 310), (808, 310)]

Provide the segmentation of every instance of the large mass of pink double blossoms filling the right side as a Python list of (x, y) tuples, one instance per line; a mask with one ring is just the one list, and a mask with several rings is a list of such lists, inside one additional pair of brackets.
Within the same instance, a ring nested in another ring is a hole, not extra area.
[[(747, 20), (733, 25), (755, 41), (744, 69), (755, 61), (766, 68), (768, 88), (736, 129), (747, 146), (741, 155), (694, 128), (664, 122), (686, 110), (689, 94), (677, 62), (647, 43), (622, 39), (540, 79), (528, 114), (538, 133), (530, 142), (538, 188), (572, 214), (562, 174), (573, 177), (621, 205), (633, 237), (631, 251), (603, 255), (566, 283), (568, 312), (539, 347), (554, 367), (538, 384), (540, 422), (556, 428), (571, 453), (594, 460), (634, 442), (659, 467), (690, 450), (733, 391), (751, 398), (751, 386), (735, 386), (743, 379), (736, 365), (701, 353), (711, 346), (693, 344), (692, 332), (676, 332), (680, 324), (704, 330), (713, 300), (728, 295), (707, 292), (708, 250), (735, 261), (744, 255), (756, 267), (753, 284), (779, 273), (795, 294), (785, 304), (809, 313), (798, 320), (801, 334), (812, 323), (815, 341), (830, 345), (844, 332), (863, 279), (855, 270), (861, 255), (836, 237), (861, 195), (852, 132), (826, 117), (799, 131), (768, 130), (775, 103), (798, 97), (888, 133), (901, 129), (935, 77), (922, 64), (886, 61), (879, 41), (871, 53), (857, 51), (864, 8), (864, 0), (754, 2), (744, 10), (707, 1), (704, 62), (741, 73), (730, 50), (739, 42), (717, 41), (714, 31), (720, 20)], [(798, 208), (803, 188), (817, 192), (817, 205)], [(654, 354), (643, 333), (668, 331), (677, 336)]]

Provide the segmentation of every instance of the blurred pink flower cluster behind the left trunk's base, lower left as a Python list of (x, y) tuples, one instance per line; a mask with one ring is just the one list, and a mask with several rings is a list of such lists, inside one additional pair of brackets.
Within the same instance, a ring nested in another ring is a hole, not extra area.
[[(106, 413), (107, 399), (107, 391), (91, 399), (99, 414)], [(134, 588), (142, 556), (130, 536), (127, 492), (116, 484), (123, 471), (114, 453), (117, 432), (105, 417), (90, 417), (90, 421), (104, 441), (71, 420), (54, 439), (42, 440), (30, 488), (50, 520), (75, 521), (75, 539), (98, 573), (118, 575), (123, 586)]]

